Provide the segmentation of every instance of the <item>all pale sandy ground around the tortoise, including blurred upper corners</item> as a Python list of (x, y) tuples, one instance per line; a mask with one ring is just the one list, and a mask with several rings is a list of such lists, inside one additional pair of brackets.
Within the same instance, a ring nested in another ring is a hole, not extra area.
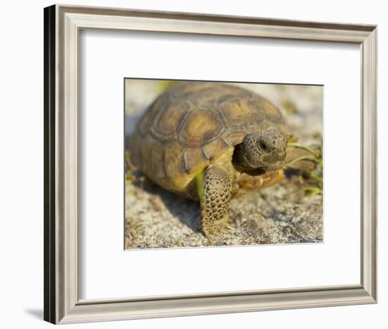
[[(322, 88), (242, 85), (274, 102), (301, 143), (322, 133)], [(128, 81), (126, 135), (154, 97), (158, 85)], [(210, 245), (289, 244), (323, 241), (322, 196), (305, 197), (297, 177), (231, 202), (233, 232), (209, 241), (200, 230), (200, 205), (164, 191), (147, 179), (126, 181), (126, 249)]]

